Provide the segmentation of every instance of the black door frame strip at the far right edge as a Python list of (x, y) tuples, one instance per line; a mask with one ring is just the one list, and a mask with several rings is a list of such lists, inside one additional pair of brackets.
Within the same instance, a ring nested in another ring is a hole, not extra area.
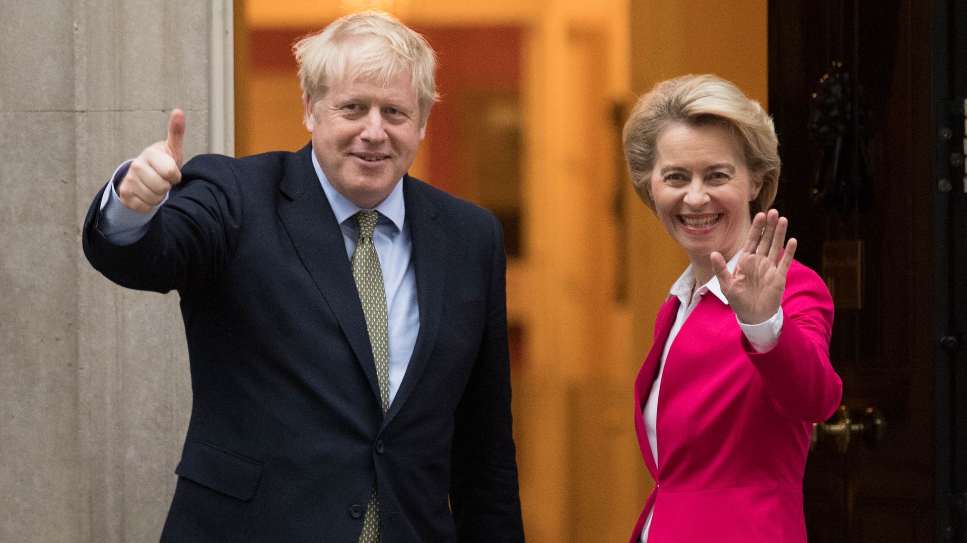
[(932, 9), (936, 540), (967, 542), (967, 2)]

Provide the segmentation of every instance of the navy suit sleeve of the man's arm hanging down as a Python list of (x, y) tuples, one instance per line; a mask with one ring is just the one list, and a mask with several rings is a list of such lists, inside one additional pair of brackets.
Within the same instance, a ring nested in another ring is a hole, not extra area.
[(512, 435), (506, 257), (492, 214), (486, 325), (480, 352), (454, 414), (451, 508), (460, 543), (522, 542)]

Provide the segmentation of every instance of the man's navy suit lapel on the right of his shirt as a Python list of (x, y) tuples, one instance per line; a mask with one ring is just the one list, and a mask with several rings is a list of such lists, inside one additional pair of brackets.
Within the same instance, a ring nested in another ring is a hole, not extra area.
[(383, 419), (383, 427), (393, 420), (409, 398), (414, 386), (426, 366), (430, 352), (440, 330), (440, 315), (443, 313), (443, 293), (447, 269), (445, 252), (445, 232), (434, 219), (437, 209), (422, 194), (420, 182), (410, 176), (403, 178), (403, 200), (406, 205), (406, 221), (410, 226), (413, 240), (413, 265), (417, 281), (417, 303), (420, 305), (420, 331), (417, 333), (413, 356), (406, 367), (403, 381), (396, 390), (396, 397), (390, 404), (390, 411)]

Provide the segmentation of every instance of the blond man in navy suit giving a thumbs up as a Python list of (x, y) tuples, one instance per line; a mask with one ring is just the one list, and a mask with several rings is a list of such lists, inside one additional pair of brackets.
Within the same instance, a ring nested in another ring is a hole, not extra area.
[(175, 110), (84, 224), (105, 276), (181, 295), (193, 405), (161, 541), (523, 541), (500, 225), (406, 175), (433, 53), (368, 13), (296, 57), (302, 151), (182, 167)]

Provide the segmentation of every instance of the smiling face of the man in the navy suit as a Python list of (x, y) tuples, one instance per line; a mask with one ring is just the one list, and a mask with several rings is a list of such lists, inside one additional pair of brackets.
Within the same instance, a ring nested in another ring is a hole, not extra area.
[(413, 163), (424, 138), (410, 76), (386, 86), (371, 78), (340, 82), (306, 98), (306, 128), (326, 178), (363, 209), (379, 205)]

